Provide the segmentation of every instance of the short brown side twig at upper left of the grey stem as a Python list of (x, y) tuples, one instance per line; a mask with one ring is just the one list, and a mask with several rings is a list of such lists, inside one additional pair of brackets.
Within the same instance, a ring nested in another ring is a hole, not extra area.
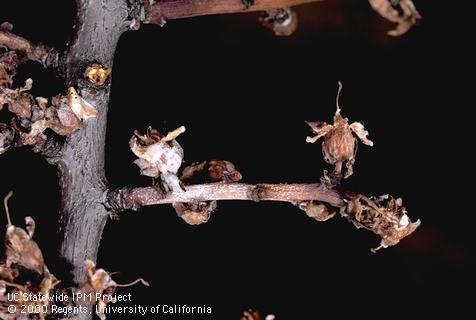
[(0, 45), (21, 53), (26, 60), (39, 62), (44, 67), (57, 68), (59, 66), (59, 54), (56, 50), (41, 44), (35, 45), (2, 27), (0, 27)]

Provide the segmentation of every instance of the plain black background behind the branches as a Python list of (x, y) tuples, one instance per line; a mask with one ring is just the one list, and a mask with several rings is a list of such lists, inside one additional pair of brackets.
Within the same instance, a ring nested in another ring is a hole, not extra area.
[[(64, 47), (70, 4), (4, 2), (0, 21)], [(131, 133), (185, 125), (179, 142), (187, 163), (228, 159), (246, 182), (315, 182), (328, 166), (320, 146), (306, 144), (304, 120), (331, 121), (342, 80), (344, 115), (364, 122), (375, 143), (359, 148), (343, 188), (403, 197), (410, 217), (423, 221), (414, 235), (374, 255), (376, 236), (340, 218), (314, 222), (288, 204), (221, 202), (200, 227), (177, 219), (169, 206), (150, 207), (108, 223), (99, 266), (120, 271), (120, 282), (150, 281), (150, 288), (133, 289), (135, 303), (213, 307), (210, 317), (164, 319), (238, 319), (249, 307), (279, 320), (464, 311), (462, 292), (474, 284), (474, 209), (463, 185), (471, 183), (470, 104), (457, 102), (452, 88), (469, 64), (444, 17), (451, 10), (435, 1), (416, 5), (421, 25), (396, 39), (385, 34), (391, 25), (357, 0), (300, 7), (290, 38), (274, 37), (256, 14), (128, 32), (114, 62), (106, 154), (112, 187), (148, 185), (131, 163)], [(62, 90), (60, 79), (35, 64), (21, 68), (18, 83), (27, 77), (37, 95)], [(1, 119), (8, 116), (2, 111)], [(47, 264), (60, 274), (55, 168), (24, 149), (2, 155), (0, 167), (0, 194), (15, 190), (15, 223), (35, 218)]]

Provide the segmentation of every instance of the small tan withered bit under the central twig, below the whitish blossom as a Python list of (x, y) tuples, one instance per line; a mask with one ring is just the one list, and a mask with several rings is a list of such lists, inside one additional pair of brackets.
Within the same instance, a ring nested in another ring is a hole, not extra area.
[(174, 203), (178, 216), (192, 226), (208, 222), (217, 208), (216, 201), (195, 201), (191, 203)]

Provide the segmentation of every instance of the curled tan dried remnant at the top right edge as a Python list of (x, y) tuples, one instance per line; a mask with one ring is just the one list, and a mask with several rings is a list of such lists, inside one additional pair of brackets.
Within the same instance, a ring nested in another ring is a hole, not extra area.
[(387, 33), (390, 36), (401, 36), (421, 19), (411, 0), (369, 0), (369, 3), (382, 17), (397, 23), (396, 28)]

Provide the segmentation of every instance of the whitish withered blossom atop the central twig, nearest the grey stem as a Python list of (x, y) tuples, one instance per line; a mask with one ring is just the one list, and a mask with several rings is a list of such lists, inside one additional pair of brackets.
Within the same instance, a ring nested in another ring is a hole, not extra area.
[(164, 137), (149, 127), (145, 135), (134, 132), (129, 141), (132, 152), (139, 158), (134, 163), (141, 169), (141, 174), (160, 177), (167, 191), (183, 190), (177, 172), (182, 166), (184, 153), (175, 138), (184, 132), (185, 127), (180, 127)]

